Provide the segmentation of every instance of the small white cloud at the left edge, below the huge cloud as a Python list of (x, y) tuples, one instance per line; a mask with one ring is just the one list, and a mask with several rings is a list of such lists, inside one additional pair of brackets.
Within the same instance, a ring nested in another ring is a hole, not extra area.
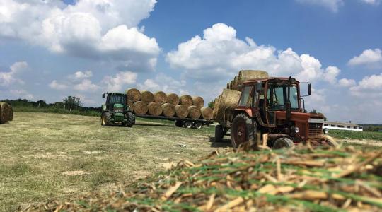
[(20, 61), (14, 63), (8, 72), (0, 72), (0, 86), (11, 86), (13, 83), (24, 82), (18, 78), (19, 73), (28, 68), (28, 63), (25, 61)]

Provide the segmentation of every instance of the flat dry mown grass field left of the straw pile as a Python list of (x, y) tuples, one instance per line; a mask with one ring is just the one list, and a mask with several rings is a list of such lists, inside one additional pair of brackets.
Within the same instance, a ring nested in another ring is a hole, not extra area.
[(213, 136), (214, 126), (183, 129), (137, 119), (133, 128), (102, 127), (98, 117), (18, 112), (0, 125), (0, 211), (107, 192), (229, 148)]

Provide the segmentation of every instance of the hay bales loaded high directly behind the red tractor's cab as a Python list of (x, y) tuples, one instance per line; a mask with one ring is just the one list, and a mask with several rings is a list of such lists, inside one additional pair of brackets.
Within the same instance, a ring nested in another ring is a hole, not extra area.
[(241, 88), (243, 83), (248, 80), (258, 78), (269, 78), (266, 71), (258, 70), (241, 70), (238, 76), (235, 76), (233, 80), (227, 83), (227, 88), (223, 90), (223, 93), (215, 99), (213, 117), (214, 120), (223, 122), (227, 119), (229, 111), (235, 109), (238, 106), (238, 101), (241, 96)]

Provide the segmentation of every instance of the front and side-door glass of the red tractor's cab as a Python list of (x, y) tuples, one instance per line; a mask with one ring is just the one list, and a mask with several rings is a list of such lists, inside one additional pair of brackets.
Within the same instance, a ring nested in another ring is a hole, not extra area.
[[(299, 98), (297, 86), (290, 87), (291, 110), (299, 109)], [(268, 86), (267, 102), (270, 110), (285, 110), (287, 105), (288, 85), (284, 83), (272, 83)]]

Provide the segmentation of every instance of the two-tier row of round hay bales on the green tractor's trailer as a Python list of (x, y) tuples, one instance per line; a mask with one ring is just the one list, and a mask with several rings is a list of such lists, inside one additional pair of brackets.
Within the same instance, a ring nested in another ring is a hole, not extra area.
[(204, 107), (203, 98), (190, 95), (166, 94), (163, 91), (151, 93), (148, 90), (139, 91), (130, 88), (127, 94), (127, 105), (137, 115), (152, 115), (165, 117), (179, 117), (191, 119), (212, 119), (212, 109)]

